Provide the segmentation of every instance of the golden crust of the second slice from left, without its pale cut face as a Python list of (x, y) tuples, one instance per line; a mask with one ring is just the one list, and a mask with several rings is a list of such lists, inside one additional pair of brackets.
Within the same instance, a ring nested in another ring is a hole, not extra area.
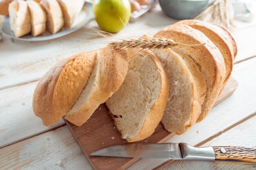
[(97, 107), (106, 102), (106, 100), (118, 90), (127, 73), (128, 63), (122, 62), (127, 58), (126, 52), (120, 55), (114, 49), (106, 48), (99, 50), (97, 55), (101, 57), (97, 58), (100, 62), (100, 64), (98, 64), (100, 73), (90, 98), (80, 110), (67, 113), (65, 116), (65, 119), (76, 126), (84, 124)]

